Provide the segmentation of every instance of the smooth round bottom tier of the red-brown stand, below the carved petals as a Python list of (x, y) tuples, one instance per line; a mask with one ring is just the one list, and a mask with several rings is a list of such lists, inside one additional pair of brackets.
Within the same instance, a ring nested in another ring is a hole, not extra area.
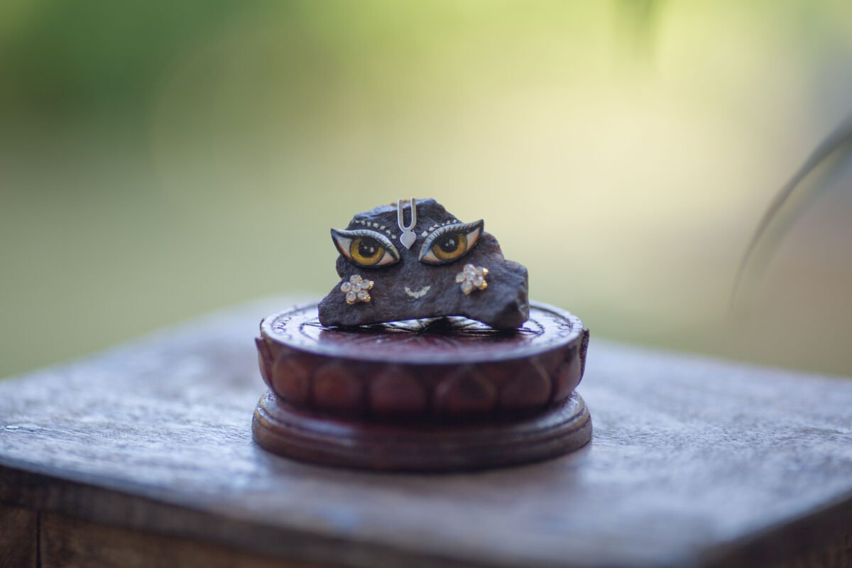
[(527, 418), (498, 422), (364, 422), (299, 410), (274, 393), (257, 404), (257, 444), (326, 466), (452, 471), (535, 462), (577, 450), (591, 439), (578, 393)]

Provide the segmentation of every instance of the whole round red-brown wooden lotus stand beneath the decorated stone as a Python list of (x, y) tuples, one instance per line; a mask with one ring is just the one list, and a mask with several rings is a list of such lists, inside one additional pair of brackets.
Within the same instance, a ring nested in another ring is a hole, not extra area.
[(574, 388), (589, 331), (533, 303), (519, 330), (465, 318), (325, 328), (315, 305), (262, 321), (271, 389), (256, 442), (330, 466), (406, 471), (492, 468), (577, 450), (591, 420)]

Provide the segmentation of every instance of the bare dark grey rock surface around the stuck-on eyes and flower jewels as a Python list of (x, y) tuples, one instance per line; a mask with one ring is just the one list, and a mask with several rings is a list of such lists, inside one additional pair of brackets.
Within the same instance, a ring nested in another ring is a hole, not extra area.
[[(406, 205), (406, 222), (410, 210)], [(435, 199), (417, 201), (417, 241), (406, 249), (399, 240), (396, 205), (383, 205), (355, 215), (347, 230), (366, 227), (386, 235), (400, 253), (400, 261), (378, 268), (356, 266), (343, 255), (337, 257), (337, 274), (341, 281), (320, 302), (320, 323), (328, 326), (354, 326), (380, 324), (404, 319), (463, 316), (481, 321), (497, 329), (513, 329), (529, 318), (527, 268), (507, 261), (497, 239), (482, 232), (478, 242), (467, 255), (442, 265), (430, 265), (417, 260), (429, 227), (440, 226), (456, 217), (447, 213)], [(384, 231), (378, 227), (385, 227)], [(388, 235), (387, 232), (391, 234)], [(466, 264), (486, 267), (488, 284), (485, 290), (474, 290), (464, 295), (456, 282), (456, 275)], [(374, 282), (370, 290), (371, 301), (349, 305), (340, 290), (354, 274)], [(413, 297), (429, 286), (420, 297)], [(406, 287), (409, 290), (406, 292)]]

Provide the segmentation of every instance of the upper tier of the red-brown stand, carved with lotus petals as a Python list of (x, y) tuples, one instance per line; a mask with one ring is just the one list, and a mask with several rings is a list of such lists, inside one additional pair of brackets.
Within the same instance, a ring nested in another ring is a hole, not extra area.
[(327, 328), (315, 304), (264, 318), (263, 380), (302, 410), (388, 422), (501, 421), (561, 404), (583, 376), (589, 330), (537, 302), (515, 330), (465, 318)]

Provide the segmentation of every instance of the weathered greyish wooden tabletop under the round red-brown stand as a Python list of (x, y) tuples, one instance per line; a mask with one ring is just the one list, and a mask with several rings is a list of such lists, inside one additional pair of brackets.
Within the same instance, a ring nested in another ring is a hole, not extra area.
[(592, 341), (583, 450), (483, 473), (319, 468), (251, 441), (273, 309), (0, 383), (0, 502), (360, 566), (796, 565), (852, 533), (852, 382)]

